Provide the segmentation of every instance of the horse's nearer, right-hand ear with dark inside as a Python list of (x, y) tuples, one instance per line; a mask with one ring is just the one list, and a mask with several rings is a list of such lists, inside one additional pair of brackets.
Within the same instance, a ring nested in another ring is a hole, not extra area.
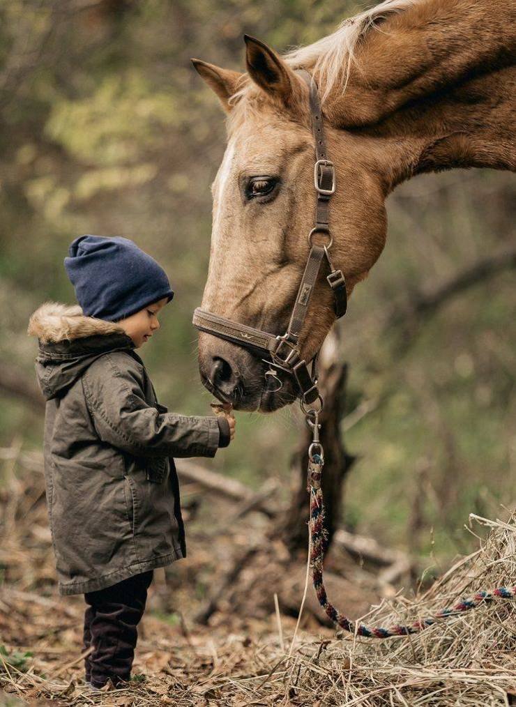
[(244, 35), (247, 71), (260, 88), (283, 105), (290, 105), (298, 79), (293, 70), (264, 42)]

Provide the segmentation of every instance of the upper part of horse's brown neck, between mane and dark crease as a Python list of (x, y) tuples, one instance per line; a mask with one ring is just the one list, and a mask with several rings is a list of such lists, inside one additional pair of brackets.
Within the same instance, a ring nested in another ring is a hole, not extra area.
[(430, 93), (511, 65), (515, 49), (513, 2), (416, 0), (362, 37), (346, 90), (334, 86), (325, 112), (342, 128), (377, 124)]

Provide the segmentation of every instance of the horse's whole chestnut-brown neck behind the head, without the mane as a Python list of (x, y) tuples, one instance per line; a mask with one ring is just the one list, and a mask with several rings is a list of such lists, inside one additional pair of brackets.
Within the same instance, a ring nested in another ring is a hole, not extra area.
[(420, 0), (363, 37), (324, 110), (386, 194), (422, 172), (515, 169), (515, 13), (506, 0)]

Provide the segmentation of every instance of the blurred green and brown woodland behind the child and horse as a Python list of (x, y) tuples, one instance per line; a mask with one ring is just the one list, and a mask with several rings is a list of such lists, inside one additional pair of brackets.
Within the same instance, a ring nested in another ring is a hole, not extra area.
[[(210, 413), (191, 320), (225, 127), (189, 58), (242, 70), (244, 33), (283, 51), (361, 8), (0, 0), (2, 449), (41, 448), (37, 346), (25, 330), (43, 301), (74, 302), (63, 259), (82, 233), (132, 238), (165, 267), (176, 297), (142, 355), (170, 409)], [(357, 457), (341, 524), (428, 563), (476, 547), (468, 514), (496, 517), (516, 497), (513, 184), (508, 173), (456, 170), (399, 187), (387, 201), (385, 252), (341, 326), (341, 429)], [(480, 268), (435, 306), (416, 308), (500, 254), (502, 267)], [(235, 442), (206, 466), (254, 489), (278, 479), (287, 500), (297, 411), (237, 417)]]

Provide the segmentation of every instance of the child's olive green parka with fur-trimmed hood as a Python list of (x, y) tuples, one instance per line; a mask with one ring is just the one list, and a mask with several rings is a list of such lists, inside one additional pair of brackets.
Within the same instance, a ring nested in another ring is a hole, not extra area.
[(216, 417), (169, 413), (119, 325), (42, 305), (45, 482), (59, 592), (91, 592), (186, 554), (172, 457), (213, 457)]

